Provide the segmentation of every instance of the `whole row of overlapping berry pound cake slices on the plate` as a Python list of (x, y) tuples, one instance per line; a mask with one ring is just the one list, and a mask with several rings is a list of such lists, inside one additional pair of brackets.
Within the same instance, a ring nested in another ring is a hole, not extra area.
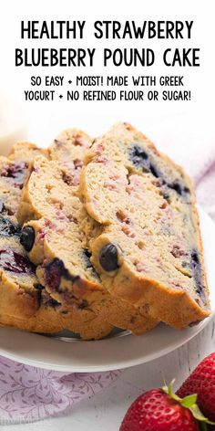
[(189, 177), (128, 123), (0, 159), (0, 323), (84, 340), (210, 315)]

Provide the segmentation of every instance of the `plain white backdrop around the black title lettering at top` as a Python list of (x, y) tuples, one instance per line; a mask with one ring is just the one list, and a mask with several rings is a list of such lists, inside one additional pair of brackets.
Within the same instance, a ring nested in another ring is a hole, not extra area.
[[(214, 2), (211, 1), (44, 1), (28, 0), (2, 3), (0, 15), (0, 90), (11, 93), (14, 98), (24, 100), (24, 89), (31, 89), (32, 75), (64, 75), (65, 81), (74, 79), (78, 74), (85, 75), (184, 75), (184, 89), (190, 89), (190, 101), (144, 101), (144, 102), (72, 102), (29, 101), (26, 108), (27, 126), (30, 139), (38, 143), (49, 142), (61, 129), (76, 126), (97, 135), (111, 125), (113, 121), (129, 121), (142, 131), (153, 133), (151, 122), (162, 124), (167, 115), (186, 114), (190, 117), (203, 118), (204, 122), (212, 118), (212, 101), (214, 99)], [(21, 20), (86, 20), (85, 37), (82, 40), (21, 40)], [(93, 23), (96, 20), (193, 20), (191, 39), (96, 39), (93, 36)], [(97, 61), (94, 68), (15, 68), (15, 47), (96, 47)], [(99, 53), (104, 47), (151, 47), (156, 53), (156, 63), (151, 68), (102, 67)], [(200, 68), (168, 68), (163, 65), (162, 52), (167, 47), (200, 47)], [(74, 79), (75, 80), (75, 79)], [(56, 88), (58, 94), (66, 94), (72, 86), (66, 84), (64, 89)], [(32, 88), (33, 89), (33, 88)], [(44, 87), (41, 86), (41, 89)], [(91, 87), (90, 89), (94, 89)], [(105, 89), (105, 88), (103, 88)], [(145, 90), (146, 88), (141, 88)], [(153, 88), (152, 88), (153, 89)], [(179, 87), (176, 89), (180, 89)], [(182, 88), (183, 89), (183, 88)], [(15, 110), (14, 110), (15, 116)], [(138, 121), (137, 121), (138, 118)], [(210, 121), (209, 121), (210, 122)], [(158, 124), (158, 128), (159, 128)], [(181, 122), (179, 119), (179, 128)], [(159, 129), (157, 129), (159, 131)], [(187, 131), (187, 126), (186, 126)], [(189, 129), (188, 129), (189, 131)], [(151, 134), (150, 134), (151, 136)], [(154, 133), (151, 136), (156, 138)], [(174, 142), (173, 142), (174, 143)]]

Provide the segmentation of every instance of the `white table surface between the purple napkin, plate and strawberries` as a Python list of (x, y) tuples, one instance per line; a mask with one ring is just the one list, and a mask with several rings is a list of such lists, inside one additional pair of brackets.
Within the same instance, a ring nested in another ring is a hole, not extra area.
[(176, 378), (177, 387), (200, 360), (215, 351), (215, 318), (193, 340), (151, 363), (125, 370), (103, 392), (73, 407), (61, 417), (26, 425), (6, 426), (6, 431), (118, 431), (128, 406), (144, 390)]

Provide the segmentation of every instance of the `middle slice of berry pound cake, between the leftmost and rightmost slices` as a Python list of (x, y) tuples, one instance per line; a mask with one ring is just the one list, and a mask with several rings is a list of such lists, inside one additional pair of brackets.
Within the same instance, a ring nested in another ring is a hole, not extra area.
[(63, 132), (48, 149), (49, 159), (36, 157), (23, 190), (18, 220), (21, 243), (37, 266), (41, 285), (64, 306), (94, 311), (102, 321), (141, 334), (157, 321), (148, 309), (116, 301), (104, 289), (90, 262), (90, 237), (100, 226), (87, 216), (77, 195), (79, 175), (90, 138), (82, 131)]

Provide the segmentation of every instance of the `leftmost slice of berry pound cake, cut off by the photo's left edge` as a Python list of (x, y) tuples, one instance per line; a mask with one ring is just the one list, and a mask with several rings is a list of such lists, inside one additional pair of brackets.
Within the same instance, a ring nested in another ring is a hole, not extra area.
[(0, 324), (36, 332), (75, 331), (84, 339), (102, 338), (111, 330), (90, 310), (66, 310), (39, 283), (36, 267), (20, 245), (16, 211), (28, 165), (46, 151), (15, 144), (8, 158), (0, 157)]

